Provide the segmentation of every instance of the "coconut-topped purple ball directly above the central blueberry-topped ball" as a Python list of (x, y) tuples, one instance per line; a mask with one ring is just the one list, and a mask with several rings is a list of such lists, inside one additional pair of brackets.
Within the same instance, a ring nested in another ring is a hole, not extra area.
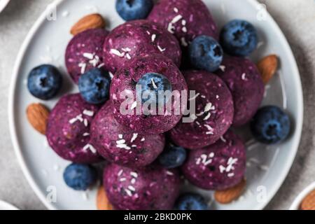
[(116, 27), (106, 37), (104, 62), (115, 73), (125, 62), (141, 54), (165, 55), (179, 66), (181, 48), (176, 38), (155, 22), (134, 20)]

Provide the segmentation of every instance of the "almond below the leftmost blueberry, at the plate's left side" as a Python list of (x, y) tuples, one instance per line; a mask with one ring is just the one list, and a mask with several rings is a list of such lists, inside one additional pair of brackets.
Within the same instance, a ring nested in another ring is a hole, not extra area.
[(27, 107), (27, 120), (41, 134), (46, 133), (48, 116), (49, 111), (43, 104), (31, 104)]

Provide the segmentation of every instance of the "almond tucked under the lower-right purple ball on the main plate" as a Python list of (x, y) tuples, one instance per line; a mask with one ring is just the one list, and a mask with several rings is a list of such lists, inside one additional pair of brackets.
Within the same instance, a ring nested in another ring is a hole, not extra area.
[(241, 196), (241, 193), (243, 193), (245, 186), (246, 181), (245, 179), (243, 179), (241, 183), (237, 184), (237, 186), (234, 186), (227, 190), (217, 190), (214, 193), (214, 198), (217, 202), (221, 204), (229, 204), (230, 202), (236, 200), (239, 196)]

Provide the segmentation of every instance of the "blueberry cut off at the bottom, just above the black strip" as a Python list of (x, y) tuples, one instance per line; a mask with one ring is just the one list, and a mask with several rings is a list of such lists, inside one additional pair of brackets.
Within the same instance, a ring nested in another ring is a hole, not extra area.
[(176, 201), (175, 209), (177, 210), (207, 210), (208, 205), (202, 195), (196, 193), (186, 193), (181, 195)]

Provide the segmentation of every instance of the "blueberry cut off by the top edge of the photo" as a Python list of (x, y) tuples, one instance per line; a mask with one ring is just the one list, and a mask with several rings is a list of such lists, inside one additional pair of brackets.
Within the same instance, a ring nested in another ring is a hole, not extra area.
[(116, 10), (126, 21), (145, 19), (153, 8), (152, 0), (117, 0)]

